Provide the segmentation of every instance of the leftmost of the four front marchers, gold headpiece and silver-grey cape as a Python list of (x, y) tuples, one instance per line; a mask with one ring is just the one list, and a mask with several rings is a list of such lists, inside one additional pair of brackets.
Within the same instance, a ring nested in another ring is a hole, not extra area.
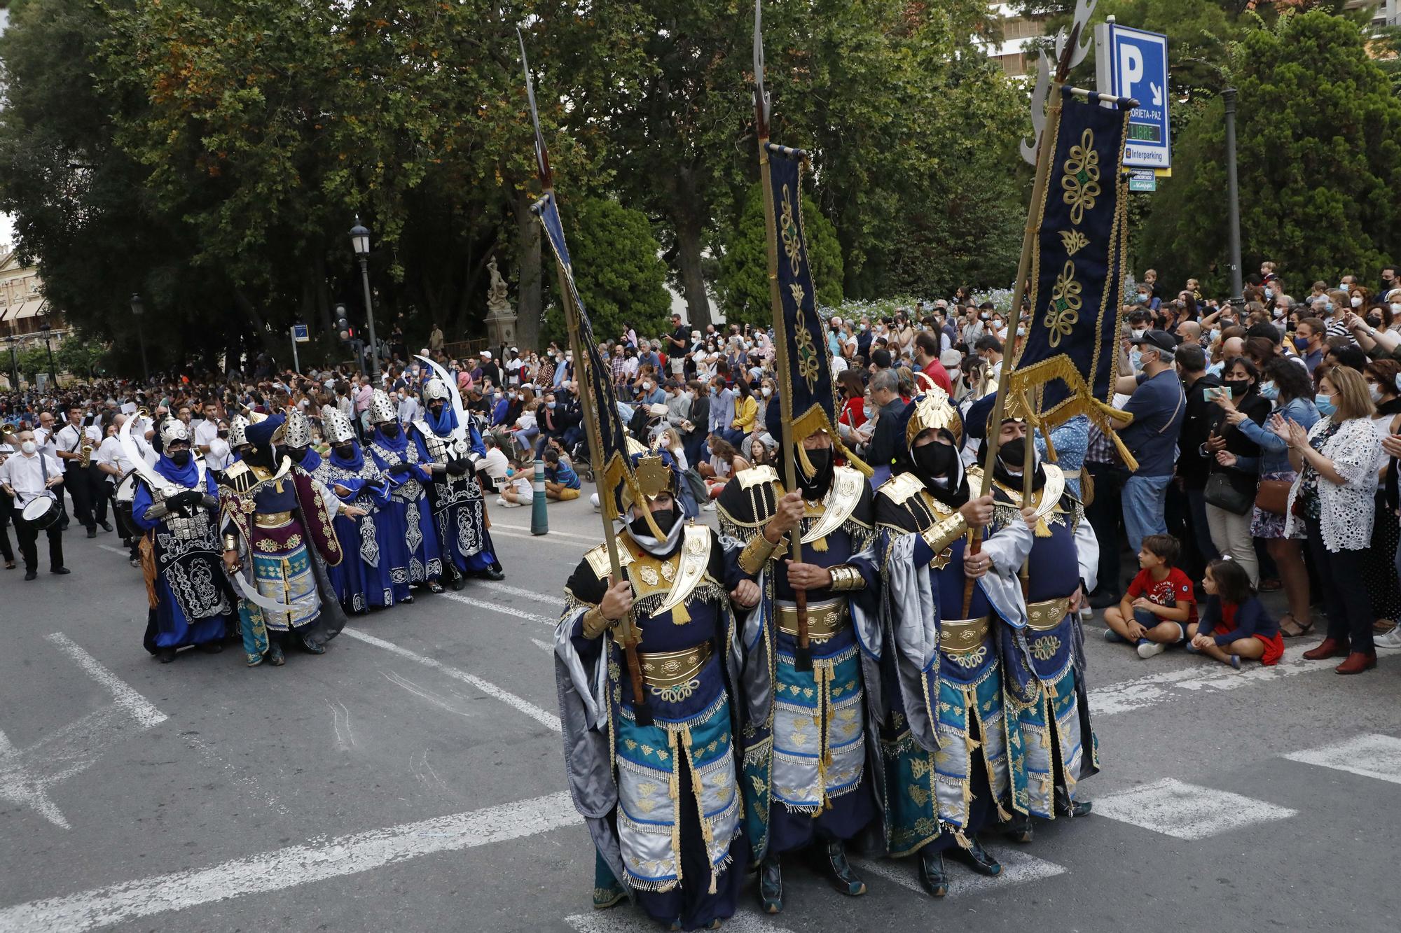
[[(555, 635), (566, 769), (594, 841), (594, 906), (630, 891), (671, 929), (716, 929), (734, 913), (748, 864), (730, 605), (752, 605), (758, 587), (715, 532), (682, 521), (668, 452), (632, 462), (643, 499), (618, 493), (625, 524), (615, 538), (626, 579), (612, 580), (607, 545), (588, 551)], [(626, 630), (640, 635), (644, 703), (619, 644)]]

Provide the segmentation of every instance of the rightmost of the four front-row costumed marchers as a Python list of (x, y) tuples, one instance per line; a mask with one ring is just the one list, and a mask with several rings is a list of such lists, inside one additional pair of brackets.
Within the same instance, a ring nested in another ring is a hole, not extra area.
[[(975, 420), (976, 419), (976, 420)], [(1014, 786), (1017, 813), (1009, 835), (1030, 842), (1031, 817), (1083, 817), (1090, 803), (1080, 800), (1080, 779), (1100, 769), (1098, 745), (1090, 724), (1084, 685), (1084, 632), (1080, 604), (1094, 588), (1100, 545), (1084, 520), (1084, 507), (1066, 489), (1055, 464), (1042, 462), (1033, 447), (1031, 502), (1023, 503), (1027, 419), (1009, 394), (1002, 424), (993, 424), (993, 396), (968, 410), (968, 427), (984, 429), (978, 459), (988, 451), (988, 433), (999, 431), (993, 466), (996, 507), (993, 534), (1021, 521), (1024, 504), (1035, 510), (1030, 565), (1024, 583), (1027, 651), (1003, 653), (1003, 686), (1009, 703), (1009, 731), (1021, 735), (1026, 783)], [(1013, 770), (1013, 779), (1019, 773)]]

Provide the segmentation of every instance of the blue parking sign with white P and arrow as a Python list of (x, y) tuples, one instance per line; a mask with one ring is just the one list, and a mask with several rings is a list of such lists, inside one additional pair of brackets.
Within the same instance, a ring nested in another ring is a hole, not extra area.
[(1117, 97), (1132, 97), (1139, 102), (1129, 116), (1124, 165), (1171, 168), (1167, 36), (1105, 22), (1094, 28), (1094, 57), (1100, 90)]

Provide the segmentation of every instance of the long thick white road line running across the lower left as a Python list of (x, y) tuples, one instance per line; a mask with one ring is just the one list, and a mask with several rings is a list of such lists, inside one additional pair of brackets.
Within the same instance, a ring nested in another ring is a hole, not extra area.
[(583, 822), (567, 793), (370, 829), (0, 909), (0, 933), (78, 933)]

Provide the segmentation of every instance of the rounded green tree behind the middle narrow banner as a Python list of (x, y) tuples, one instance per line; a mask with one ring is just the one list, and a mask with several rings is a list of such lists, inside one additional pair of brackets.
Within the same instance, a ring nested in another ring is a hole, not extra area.
[[(817, 203), (803, 195), (803, 233), (807, 237), (807, 256), (817, 286), (818, 307), (835, 308), (842, 303), (842, 244)], [(769, 297), (769, 248), (764, 226), (764, 186), (751, 185), (740, 223), (730, 228), (730, 237), (720, 256), (720, 307), (726, 321), (768, 325), (773, 319)]]

